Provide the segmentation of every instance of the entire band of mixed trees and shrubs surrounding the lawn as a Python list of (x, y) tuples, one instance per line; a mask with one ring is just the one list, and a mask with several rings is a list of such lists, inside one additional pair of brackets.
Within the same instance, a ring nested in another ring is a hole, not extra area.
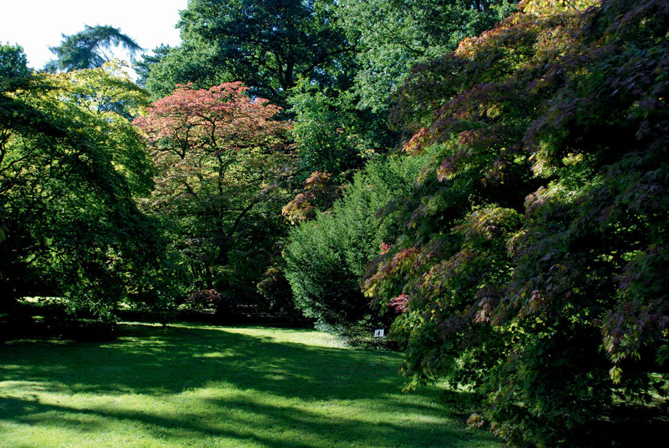
[(39, 72), (4, 45), (3, 319), (58, 296), (107, 322), (386, 327), (412, 385), (475, 391), (473, 427), (596, 445), (667, 396), (668, 20), (660, 0), (192, 0), (137, 83), (96, 53), (134, 48), (111, 27)]

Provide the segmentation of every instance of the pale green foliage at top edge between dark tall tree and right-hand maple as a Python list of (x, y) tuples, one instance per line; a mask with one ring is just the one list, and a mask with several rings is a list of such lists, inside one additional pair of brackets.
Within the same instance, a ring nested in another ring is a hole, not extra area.
[(338, 18), (357, 39), (361, 108), (387, 113), (390, 95), (419, 61), (455, 50), (511, 12), (511, 0), (344, 0)]

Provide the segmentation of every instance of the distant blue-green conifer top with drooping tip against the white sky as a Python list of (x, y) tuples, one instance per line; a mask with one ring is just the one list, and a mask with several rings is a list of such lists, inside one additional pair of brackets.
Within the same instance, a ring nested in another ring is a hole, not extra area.
[(85, 68), (101, 68), (110, 57), (104, 50), (111, 47), (121, 46), (130, 56), (142, 48), (130, 37), (123, 34), (119, 28), (113, 26), (96, 25), (85, 26), (83, 31), (66, 36), (63, 34), (63, 42), (57, 47), (50, 47), (53, 54), (58, 57), (56, 61), (48, 63), (49, 70), (82, 70)]

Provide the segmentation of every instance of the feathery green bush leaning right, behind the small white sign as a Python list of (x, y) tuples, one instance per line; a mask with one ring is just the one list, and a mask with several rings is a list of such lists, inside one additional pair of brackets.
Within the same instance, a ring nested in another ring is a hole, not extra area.
[(382, 243), (398, 233), (395, 216), (379, 218), (378, 210), (409, 192), (419, 166), (420, 159), (372, 161), (330, 211), (291, 229), (286, 277), (305, 316), (340, 333), (379, 322), (384, 313), (369, 305), (358, 283)]

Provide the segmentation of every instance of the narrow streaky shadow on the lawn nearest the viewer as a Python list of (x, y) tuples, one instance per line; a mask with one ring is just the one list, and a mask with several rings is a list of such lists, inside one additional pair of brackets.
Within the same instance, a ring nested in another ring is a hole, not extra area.
[[(50, 405), (25, 399), (3, 399), (3, 414), (12, 411), (13, 422), (30, 425), (63, 426), (86, 434), (97, 425), (104, 431), (105, 419), (130, 421), (156, 439), (169, 440), (182, 446), (188, 440), (253, 440), (263, 447), (313, 448), (338, 446), (365, 447), (477, 447), (486, 438), (477, 437), (465, 427), (443, 431), (430, 422), (370, 423), (357, 418), (328, 419), (323, 414), (298, 407), (277, 407), (249, 400), (216, 400), (219, 419), (203, 419), (198, 414), (170, 417), (145, 411), (124, 409), (79, 409)], [(240, 412), (240, 409), (243, 412)], [(99, 423), (82, 421), (94, 416)], [(227, 422), (220, 424), (221, 421)], [(480, 439), (480, 440), (477, 440)], [(478, 443), (477, 443), (478, 442)], [(225, 446), (225, 445), (223, 445)]]

